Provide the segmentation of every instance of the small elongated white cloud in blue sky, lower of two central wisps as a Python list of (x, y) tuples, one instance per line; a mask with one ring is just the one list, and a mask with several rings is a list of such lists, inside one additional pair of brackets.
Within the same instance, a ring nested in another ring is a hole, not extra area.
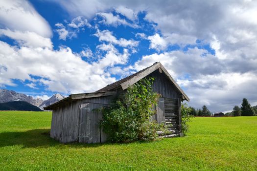
[(100, 31), (97, 29), (94, 36), (98, 37), (99, 41), (101, 41), (101, 42), (109, 42), (109, 43), (117, 44), (121, 47), (136, 47), (139, 44), (138, 41), (134, 41), (133, 39), (131, 39), (131, 40), (126, 40), (123, 38), (117, 39), (113, 35), (113, 33), (109, 30)]

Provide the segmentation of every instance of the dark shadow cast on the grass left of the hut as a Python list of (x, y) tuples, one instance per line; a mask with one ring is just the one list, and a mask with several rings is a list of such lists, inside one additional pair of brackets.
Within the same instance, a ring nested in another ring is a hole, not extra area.
[(96, 148), (103, 144), (62, 144), (50, 137), (50, 129), (32, 129), (23, 132), (1, 132), (0, 147), (22, 145), (23, 148)]

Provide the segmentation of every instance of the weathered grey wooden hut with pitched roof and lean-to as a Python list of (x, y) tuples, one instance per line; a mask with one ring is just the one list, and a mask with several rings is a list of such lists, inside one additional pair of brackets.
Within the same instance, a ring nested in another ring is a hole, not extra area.
[(98, 126), (102, 119), (101, 110), (108, 106), (114, 97), (122, 93), (130, 85), (143, 78), (155, 78), (153, 90), (161, 94), (157, 114), (152, 119), (165, 123), (169, 134), (165, 137), (180, 136), (181, 102), (189, 98), (174, 81), (161, 63), (155, 63), (133, 75), (107, 85), (92, 93), (71, 94), (69, 97), (54, 103), (46, 110), (52, 110), (50, 136), (61, 143), (102, 143), (107, 135)]

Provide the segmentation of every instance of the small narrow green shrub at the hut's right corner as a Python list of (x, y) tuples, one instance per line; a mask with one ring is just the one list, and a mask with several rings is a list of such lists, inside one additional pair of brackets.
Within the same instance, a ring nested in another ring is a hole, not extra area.
[(181, 105), (181, 120), (182, 120), (181, 127), (182, 127), (182, 132), (184, 134), (186, 134), (189, 129), (188, 122), (190, 122), (191, 118), (194, 117), (190, 113), (191, 113), (191, 108), (187, 107), (186, 103), (182, 104)]

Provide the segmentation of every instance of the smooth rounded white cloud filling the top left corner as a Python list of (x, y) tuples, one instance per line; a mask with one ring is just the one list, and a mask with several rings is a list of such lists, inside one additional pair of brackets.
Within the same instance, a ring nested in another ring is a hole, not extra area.
[(52, 36), (47, 21), (27, 0), (1, 0), (0, 23), (14, 32), (34, 32), (45, 38)]

